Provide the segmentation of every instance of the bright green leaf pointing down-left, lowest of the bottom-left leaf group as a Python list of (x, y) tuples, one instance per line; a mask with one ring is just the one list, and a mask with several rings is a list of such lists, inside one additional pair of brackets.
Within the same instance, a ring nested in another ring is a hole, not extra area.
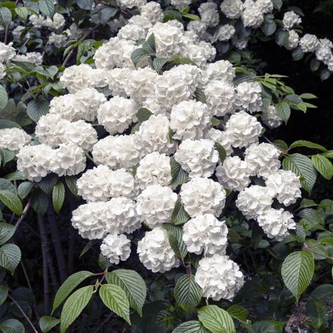
[(60, 333), (65, 333), (72, 322), (79, 317), (80, 313), (89, 303), (91, 296), (93, 296), (93, 286), (77, 289), (76, 292), (68, 297), (60, 315)]

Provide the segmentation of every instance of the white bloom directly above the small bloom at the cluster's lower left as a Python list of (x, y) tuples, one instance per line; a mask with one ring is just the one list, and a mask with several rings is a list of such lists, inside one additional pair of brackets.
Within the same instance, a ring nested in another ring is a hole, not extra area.
[(112, 197), (104, 205), (103, 226), (107, 233), (133, 233), (141, 227), (136, 203), (126, 197)]

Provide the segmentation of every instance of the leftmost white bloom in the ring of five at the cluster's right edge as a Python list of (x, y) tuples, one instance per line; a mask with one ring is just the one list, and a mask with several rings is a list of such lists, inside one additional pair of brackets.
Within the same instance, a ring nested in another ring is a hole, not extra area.
[(216, 168), (218, 181), (233, 191), (242, 191), (250, 183), (251, 170), (238, 156), (226, 157)]

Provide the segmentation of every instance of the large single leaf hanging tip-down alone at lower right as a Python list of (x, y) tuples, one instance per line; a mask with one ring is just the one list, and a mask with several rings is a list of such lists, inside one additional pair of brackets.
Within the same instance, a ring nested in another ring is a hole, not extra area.
[(314, 268), (313, 254), (309, 251), (293, 252), (283, 261), (281, 268), (283, 282), (297, 302), (310, 284)]

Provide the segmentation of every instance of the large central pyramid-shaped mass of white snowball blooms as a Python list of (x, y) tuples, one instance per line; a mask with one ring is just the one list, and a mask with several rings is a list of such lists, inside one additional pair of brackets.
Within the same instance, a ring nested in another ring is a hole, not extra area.
[[(161, 22), (155, 2), (117, 2), (138, 7), (141, 14), (98, 48), (96, 68), (81, 64), (65, 69), (60, 83), (69, 93), (53, 98), (48, 115), (37, 122), (39, 144), (28, 145), (30, 137), (24, 136), (15, 145), (18, 169), (37, 182), (50, 172), (78, 175), (78, 192), (86, 203), (72, 212), (72, 226), (84, 238), (102, 240), (101, 252), (111, 263), (129, 258), (128, 234), (148, 228), (137, 244), (143, 265), (160, 273), (179, 266), (168, 223), (181, 205), (189, 221), (173, 227), (183, 229), (188, 252), (202, 256), (195, 280), (205, 297), (232, 299), (244, 277), (226, 256), (225, 189), (234, 192), (244, 218), (254, 218), (268, 237), (282, 240), (295, 228), (292, 214), (275, 209), (274, 200), (285, 206), (296, 202), (299, 178), (280, 170), (278, 148), (261, 143), (261, 123), (274, 128), (281, 119), (274, 105), (263, 112), (259, 81), (236, 84), (228, 61), (211, 63), (216, 55), (211, 43), (235, 33), (233, 26), (224, 25), (207, 37), (207, 27), (219, 22), (215, 3), (201, 4), (201, 21), (185, 30), (178, 20)], [(172, 1), (178, 8), (188, 3)], [(241, 18), (247, 27), (261, 25), (272, 10), (270, 0), (221, 4), (228, 18)], [(61, 22), (32, 20), (53, 29)], [(286, 29), (292, 20), (285, 18)], [(143, 47), (137, 41), (152, 37), (157, 57), (180, 55), (197, 66), (171, 65), (157, 72), (143, 59), (136, 67), (131, 55)], [(112, 94), (100, 93), (103, 87)], [(8, 148), (6, 142), (0, 145)], [(93, 169), (86, 169), (87, 156), (96, 164)]]

